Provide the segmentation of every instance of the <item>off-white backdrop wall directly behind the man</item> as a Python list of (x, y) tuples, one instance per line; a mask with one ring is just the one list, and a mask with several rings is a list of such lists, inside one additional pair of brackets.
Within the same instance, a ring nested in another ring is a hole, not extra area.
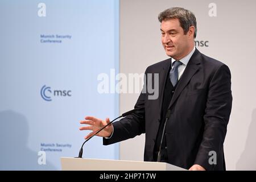
[[(212, 4), (216, 11), (212, 11)], [(209, 7), (210, 5), (210, 7)], [(256, 170), (256, 1), (120, 1), (120, 72), (144, 73), (167, 59), (160, 43), (158, 14), (184, 7), (197, 18), (197, 48), (227, 64), (232, 72), (233, 108), (224, 143), (228, 170)], [(212, 14), (216, 16), (210, 16)], [(207, 47), (208, 46), (208, 47)], [(131, 109), (139, 94), (121, 94), (120, 112)], [(143, 160), (144, 135), (120, 144), (120, 159)]]

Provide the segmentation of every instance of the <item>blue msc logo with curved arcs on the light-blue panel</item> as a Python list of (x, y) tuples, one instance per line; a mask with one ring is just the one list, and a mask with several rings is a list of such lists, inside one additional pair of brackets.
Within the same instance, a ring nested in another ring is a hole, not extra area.
[(45, 101), (52, 101), (52, 97), (71, 97), (71, 90), (53, 90), (51, 87), (44, 85), (41, 89), (41, 97)]

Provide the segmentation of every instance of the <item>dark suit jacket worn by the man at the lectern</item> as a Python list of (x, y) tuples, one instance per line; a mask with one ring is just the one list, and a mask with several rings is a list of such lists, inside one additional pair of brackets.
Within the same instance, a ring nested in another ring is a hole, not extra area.
[[(170, 64), (171, 59), (167, 59), (146, 69), (146, 74), (159, 73), (159, 97), (149, 100), (150, 93), (141, 93), (135, 104), (136, 112), (113, 123), (114, 133), (112, 138), (104, 139), (105, 145), (146, 133), (144, 160), (153, 161)], [(147, 86), (148, 80), (144, 83)], [(196, 49), (168, 106), (171, 110), (166, 124), (168, 163), (186, 169), (199, 164), (207, 170), (225, 170), (223, 143), (231, 108), (228, 66)]]

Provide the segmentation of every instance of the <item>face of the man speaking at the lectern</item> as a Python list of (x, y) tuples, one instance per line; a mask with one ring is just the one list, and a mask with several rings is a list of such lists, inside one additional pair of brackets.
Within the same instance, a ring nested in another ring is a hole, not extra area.
[(174, 58), (175, 60), (180, 60), (188, 55), (189, 51), (192, 51), (192, 29), (189, 28), (187, 34), (184, 35), (183, 28), (180, 26), (178, 19), (168, 19), (162, 21), (162, 44), (168, 56)]

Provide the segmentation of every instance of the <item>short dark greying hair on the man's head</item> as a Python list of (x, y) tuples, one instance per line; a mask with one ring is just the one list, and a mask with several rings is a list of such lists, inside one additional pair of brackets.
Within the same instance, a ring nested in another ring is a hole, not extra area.
[(187, 34), (189, 27), (195, 27), (194, 38), (196, 38), (196, 17), (195, 15), (182, 7), (172, 7), (170, 9), (164, 10), (158, 15), (158, 20), (162, 23), (163, 20), (168, 19), (179, 19), (180, 26), (183, 28), (184, 34)]

